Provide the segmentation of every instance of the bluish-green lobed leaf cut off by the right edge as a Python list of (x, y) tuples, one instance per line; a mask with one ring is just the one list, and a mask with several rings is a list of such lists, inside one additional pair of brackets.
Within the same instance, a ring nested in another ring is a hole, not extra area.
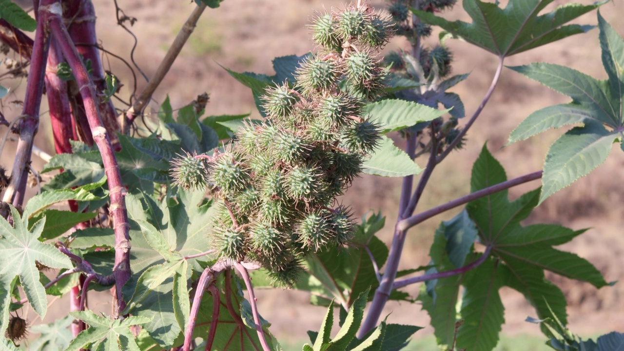
[(618, 139), (624, 142), (624, 40), (600, 16), (600, 12), (598, 27), (602, 61), (608, 79), (598, 80), (554, 64), (510, 67), (572, 97), (572, 102), (534, 112), (512, 132), (509, 143), (527, 139), (550, 128), (583, 124), (563, 134), (548, 150), (540, 203), (605, 162), (613, 142)]

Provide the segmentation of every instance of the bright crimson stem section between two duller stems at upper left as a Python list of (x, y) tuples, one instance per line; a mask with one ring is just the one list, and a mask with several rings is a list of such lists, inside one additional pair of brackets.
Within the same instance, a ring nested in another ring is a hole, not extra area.
[(74, 131), (72, 130), (69, 97), (67, 97), (67, 82), (56, 75), (57, 67), (61, 62), (64, 62), (61, 49), (57, 42), (51, 39), (50, 52), (47, 56), (46, 95), (50, 109), (54, 149), (57, 154), (70, 154), (72, 145), (69, 141), (74, 139)]

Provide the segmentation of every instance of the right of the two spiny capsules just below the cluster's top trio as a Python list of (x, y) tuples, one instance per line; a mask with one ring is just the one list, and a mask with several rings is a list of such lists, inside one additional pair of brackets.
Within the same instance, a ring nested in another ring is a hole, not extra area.
[(346, 58), (346, 66), (347, 81), (359, 94), (372, 100), (383, 92), (386, 73), (369, 54), (352, 54)]

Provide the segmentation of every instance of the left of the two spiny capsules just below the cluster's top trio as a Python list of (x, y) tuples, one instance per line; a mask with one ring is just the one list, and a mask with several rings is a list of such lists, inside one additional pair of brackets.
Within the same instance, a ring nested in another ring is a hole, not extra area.
[(338, 68), (331, 59), (323, 60), (314, 57), (304, 62), (297, 73), (297, 86), (303, 94), (310, 95), (316, 91), (328, 91), (336, 84)]

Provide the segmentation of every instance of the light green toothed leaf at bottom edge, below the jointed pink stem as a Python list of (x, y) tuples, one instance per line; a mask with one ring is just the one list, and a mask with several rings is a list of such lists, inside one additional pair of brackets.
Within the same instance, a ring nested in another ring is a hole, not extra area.
[[(133, 325), (148, 323), (145, 317), (127, 317), (125, 319), (109, 319), (104, 315), (96, 315), (91, 311), (70, 312), (76, 319), (89, 325), (72, 340), (66, 351), (80, 349), (91, 350), (128, 350), (139, 351), (135, 337), (130, 331)], [(90, 345), (90, 347), (89, 347)]]

